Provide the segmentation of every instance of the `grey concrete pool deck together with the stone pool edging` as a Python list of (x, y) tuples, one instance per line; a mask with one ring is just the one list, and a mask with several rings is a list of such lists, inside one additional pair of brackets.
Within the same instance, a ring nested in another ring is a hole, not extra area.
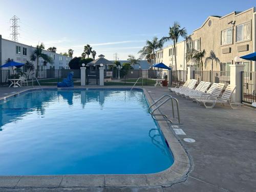
[[(0, 97), (25, 89), (28, 88), (1, 87)], [(148, 100), (156, 100), (164, 94), (171, 94), (166, 88), (145, 86), (144, 89)], [(0, 177), (0, 191), (256, 191), (256, 110), (246, 106), (232, 110), (219, 105), (212, 110), (206, 110), (190, 100), (172, 95), (179, 100), (180, 105), (182, 124), (178, 125), (178, 128), (186, 133), (178, 135), (178, 139), (192, 160), (191, 164), (186, 164), (188, 174), (179, 174), (177, 182), (169, 182), (169, 185), (166, 185), (155, 178), (148, 180), (142, 175), (132, 180), (125, 180), (120, 175), (115, 175), (114, 180), (96, 176), (88, 180), (87, 176), (83, 176), (82, 181), (91, 186), (86, 187), (84, 183), (79, 183), (81, 180), (78, 180), (77, 176), (49, 176), (49, 180), (38, 180), (31, 176), (29, 183), (22, 177)], [(170, 108), (171, 104), (167, 103), (160, 111), (171, 116)], [(164, 136), (168, 137), (169, 134), (169, 137), (172, 137), (171, 128), (164, 125), (167, 123), (159, 124)], [(183, 141), (184, 138), (192, 138), (196, 142), (187, 143)], [(170, 138), (172, 139), (175, 141), (176, 138)], [(180, 147), (177, 141), (170, 144), (172, 150), (176, 145)], [(186, 157), (182, 156), (180, 160), (185, 159)], [(180, 177), (182, 175), (184, 177)], [(160, 177), (158, 179), (161, 180)], [(67, 180), (71, 183), (67, 184)], [(122, 187), (114, 187), (113, 182), (117, 180), (123, 183)], [(134, 181), (141, 182), (141, 185), (135, 185)]]

